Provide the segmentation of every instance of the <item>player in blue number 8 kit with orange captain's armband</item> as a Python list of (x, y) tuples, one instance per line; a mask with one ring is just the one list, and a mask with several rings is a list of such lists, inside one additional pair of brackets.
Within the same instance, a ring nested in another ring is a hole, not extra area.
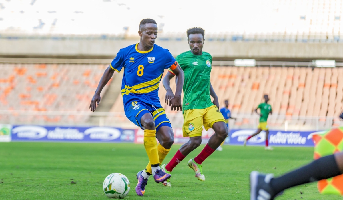
[[(181, 91), (184, 72), (167, 49), (155, 44), (157, 24), (155, 20), (143, 19), (139, 25), (138, 44), (119, 50), (116, 58), (105, 70), (90, 105), (95, 111), (100, 102), (100, 92), (115, 71), (124, 68), (121, 95), (127, 118), (144, 130), (144, 147), (149, 157), (145, 170), (138, 172), (136, 193), (143, 196), (150, 175), (156, 183), (170, 178), (159, 167), (174, 142), (174, 133), (165, 110), (158, 97), (159, 82), (165, 69), (170, 68), (176, 75), (176, 92), (170, 104), (172, 110), (182, 109)], [(157, 145), (156, 138), (159, 141)]]

